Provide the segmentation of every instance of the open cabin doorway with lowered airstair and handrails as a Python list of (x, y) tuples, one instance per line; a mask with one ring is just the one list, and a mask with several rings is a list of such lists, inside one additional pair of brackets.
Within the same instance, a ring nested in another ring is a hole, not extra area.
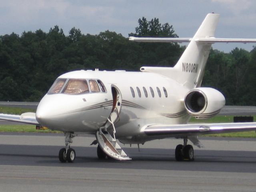
[[(104, 124), (104, 126), (102, 126), (100, 130), (96, 132), (96, 139), (99, 144), (98, 148), (100, 148), (107, 156), (116, 160), (131, 160), (131, 158), (126, 155), (124, 150), (122, 150), (122, 148), (116, 142), (115, 124), (119, 121), (122, 97), (120, 91), (115, 86), (112, 86), (111, 91), (113, 96), (113, 106), (110, 116), (106, 124)], [(100, 149), (97, 150), (97, 153)], [(98, 154), (99, 158), (100, 156), (102, 156), (102, 153)]]

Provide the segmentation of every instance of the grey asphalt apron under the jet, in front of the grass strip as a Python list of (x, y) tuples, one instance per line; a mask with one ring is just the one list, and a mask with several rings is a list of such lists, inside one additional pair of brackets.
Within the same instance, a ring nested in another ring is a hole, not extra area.
[[(256, 140), (200, 138), (194, 162), (176, 162), (178, 139), (124, 146), (130, 161), (98, 160), (94, 136), (74, 138), (74, 163), (60, 163), (62, 134), (0, 133), (0, 191), (255, 191)], [(123, 145), (121, 145), (123, 146)]]

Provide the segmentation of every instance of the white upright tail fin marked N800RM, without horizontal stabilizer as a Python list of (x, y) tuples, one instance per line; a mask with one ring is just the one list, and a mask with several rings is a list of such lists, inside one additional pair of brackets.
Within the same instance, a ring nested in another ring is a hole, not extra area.
[(188, 88), (200, 87), (212, 43), (198, 38), (214, 38), (219, 14), (208, 14), (173, 68), (172, 78)]

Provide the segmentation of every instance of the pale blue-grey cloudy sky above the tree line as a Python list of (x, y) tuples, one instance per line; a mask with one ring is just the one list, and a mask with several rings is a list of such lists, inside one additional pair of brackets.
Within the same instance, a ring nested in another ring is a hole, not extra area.
[[(0, 0), (0, 35), (58, 25), (65, 35), (72, 27), (83, 34), (106, 30), (128, 37), (138, 19), (158, 18), (169, 23), (179, 37), (192, 37), (207, 13), (220, 14), (218, 38), (256, 38), (255, 0)], [(254, 44), (214, 44), (230, 52), (233, 48), (252, 50)]]

